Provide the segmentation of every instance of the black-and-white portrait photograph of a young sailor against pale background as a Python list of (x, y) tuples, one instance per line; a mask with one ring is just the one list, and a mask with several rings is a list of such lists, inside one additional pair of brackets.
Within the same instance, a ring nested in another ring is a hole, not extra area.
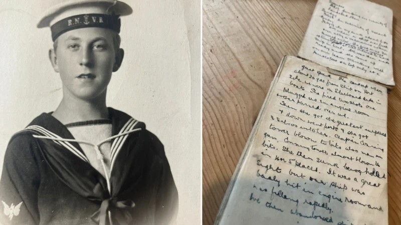
[(200, 8), (0, 4), (0, 224), (200, 224)]

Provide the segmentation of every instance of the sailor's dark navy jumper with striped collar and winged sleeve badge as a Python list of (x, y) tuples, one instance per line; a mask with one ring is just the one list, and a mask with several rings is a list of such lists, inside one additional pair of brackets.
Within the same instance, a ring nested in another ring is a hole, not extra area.
[(162, 143), (129, 115), (109, 108), (109, 116), (109, 182), (50, 113), (16, 133), (0, 181), (0, 223), (169, 224), (178, 196)]

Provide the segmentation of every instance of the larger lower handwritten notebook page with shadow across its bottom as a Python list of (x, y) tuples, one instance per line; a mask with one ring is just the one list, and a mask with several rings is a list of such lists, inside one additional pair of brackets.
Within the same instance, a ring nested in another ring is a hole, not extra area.
[(287, 57), (216, 224), (387, 224), (386, 114), (384, 87)]

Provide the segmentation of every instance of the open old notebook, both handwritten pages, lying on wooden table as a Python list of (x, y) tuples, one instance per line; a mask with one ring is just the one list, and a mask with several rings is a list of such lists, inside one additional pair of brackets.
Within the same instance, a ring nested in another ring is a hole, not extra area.
[(216, 225), (388, 224), (392, 11), (319, 0), (283, 58)]

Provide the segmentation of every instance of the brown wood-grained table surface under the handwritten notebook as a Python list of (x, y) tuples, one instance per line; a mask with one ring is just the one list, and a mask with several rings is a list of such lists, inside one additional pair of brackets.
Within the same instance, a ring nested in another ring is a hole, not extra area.
[[(401, 1), (393, 10), (388, 95), (389, 224), (401, 224)], [(213, 224), (284, 55), (295, 56), (316, 0), (203, 1), (203, 223)]]

